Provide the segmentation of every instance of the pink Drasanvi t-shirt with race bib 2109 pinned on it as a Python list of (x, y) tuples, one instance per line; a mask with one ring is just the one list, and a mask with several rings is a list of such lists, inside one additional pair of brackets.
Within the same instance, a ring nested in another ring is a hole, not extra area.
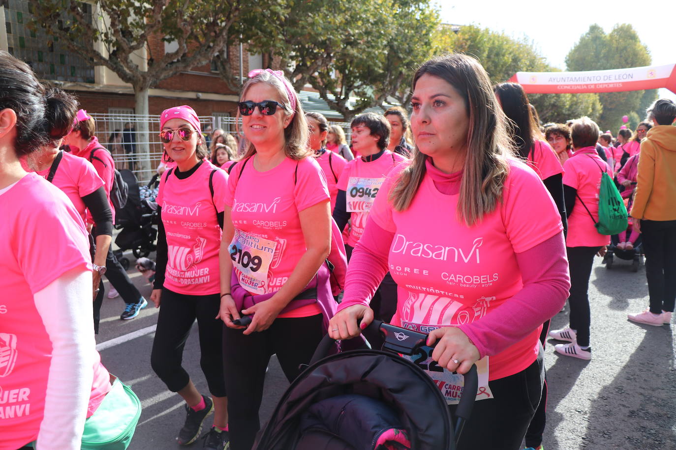
[(298, 213), (320, 202), (329, 202), (329, 191), (314, 158), (286, 158), (265, 172), (253, 158), (237, 163), (225, 204), (235, 227), (228, 250), (242, 287), (254, 294), (281, 289), (307, 250)]

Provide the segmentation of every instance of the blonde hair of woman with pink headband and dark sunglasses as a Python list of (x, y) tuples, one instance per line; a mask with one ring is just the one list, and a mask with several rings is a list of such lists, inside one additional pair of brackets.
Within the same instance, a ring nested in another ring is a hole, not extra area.
[[(260, 74), (254, 76), (254, 78), (249, 78), (249, 80), (244, 84), (242, 88), (242, 93), (240, 96), (240, 101), (243, 101), (244, 96), (251, 86), (256, 83), (266, 83), (269, 86), (272, 86), (279, 97), (282, 99), (284, 105), (284, 113), (286, 117), (293, 115), (291, 123), (289, 126), (284, 129), (284, 153), (287, 157), (295, 160), (303, 159), (314, 154), (314, 151), (308, 148), (308, 121), (305, 119), (305, 112), (303, 111), (303, 105), (300, 101), (296, 99), (295, 102), (295, 111), (291, 111), (291, 101), (289, 99), (289, 94), (285, 86), (282, 84), (281, 80), (270, 74), (270, 72), (261, 72)], [(293, 93), (295, 95), (295, 92)], [(239, 118), (240, 118), (239, 109), (237, 109), (237, 132), (239, 133)], [(246, 137), (246, 136), (245, 136)], [(247, 139), (247, 146), (245, 148), (244, 155), (241, 159), (246, 159), (253, 156), (256, 153), (256, 147), (254, 144)]]

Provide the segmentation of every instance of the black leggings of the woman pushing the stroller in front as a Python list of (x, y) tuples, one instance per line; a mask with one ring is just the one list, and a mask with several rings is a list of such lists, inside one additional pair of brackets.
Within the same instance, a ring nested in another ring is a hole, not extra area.
[[(474, 403), (464, 426), (458, 450), (518, 450), (540, 401), (544, 381), (542, 351), (516, 374), (488, 382), (493, 399)], [(449, 406), (452, 413), (456, 406)]]

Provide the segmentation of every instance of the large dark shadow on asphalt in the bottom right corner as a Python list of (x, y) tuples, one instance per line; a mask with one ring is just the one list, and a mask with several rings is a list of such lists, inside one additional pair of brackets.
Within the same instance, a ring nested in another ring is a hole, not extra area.
[(591, 448), (676, 449), (671, 327), (636, 328), (635, 333), (645, 333), (644, 339), (591, 403), (583, 438)]

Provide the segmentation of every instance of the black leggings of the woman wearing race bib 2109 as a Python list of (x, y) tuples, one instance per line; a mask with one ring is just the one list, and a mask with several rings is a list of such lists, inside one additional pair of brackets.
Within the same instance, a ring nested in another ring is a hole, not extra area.
[(323, 337), (322, 314), (277, 318), (265, 331), (243, 335), (223, 327), (223, 364), (228, 395), (228, 427), (232, 450), (251, 450), (260, 429), (258, 410), (263, 397), (265, 370), (277, 355), (289, 382), (308, 364)]

